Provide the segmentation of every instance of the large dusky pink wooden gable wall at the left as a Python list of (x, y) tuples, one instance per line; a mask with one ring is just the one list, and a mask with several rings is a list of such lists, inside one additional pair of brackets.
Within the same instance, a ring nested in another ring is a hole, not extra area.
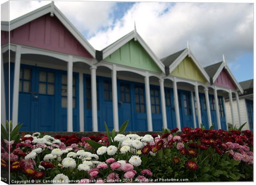
[[(1, 32), (1, 36), (2, 34)], [(12, 30), (10, 42), (92, 58), (90, 53), (73, 37), (59, 19), (56, 16), (51, 17), (50, 14)]]

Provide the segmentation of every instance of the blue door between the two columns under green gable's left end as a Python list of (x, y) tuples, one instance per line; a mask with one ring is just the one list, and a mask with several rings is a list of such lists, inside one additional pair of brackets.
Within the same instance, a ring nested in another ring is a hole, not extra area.
[(113, 103), (112, 103), (112, 83), (110, 78), (99, 77), (99, 106), (100, 117), (98, 119), (98, 130), (105, 131), (104, 122), (109, 130), (113, 130)]

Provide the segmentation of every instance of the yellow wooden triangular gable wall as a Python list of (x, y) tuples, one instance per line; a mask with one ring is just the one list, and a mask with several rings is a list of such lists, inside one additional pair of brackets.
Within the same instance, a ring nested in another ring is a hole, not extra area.
[(184, 79), (190, 79), (200, 82), (206, 82), (204, 75), (198, 69), (197, 65), (188, 56), (171, 72), (171, 76), (178, 76)]

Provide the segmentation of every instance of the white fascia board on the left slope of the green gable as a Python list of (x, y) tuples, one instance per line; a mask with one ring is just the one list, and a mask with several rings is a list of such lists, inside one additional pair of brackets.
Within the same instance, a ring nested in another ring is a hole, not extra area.
[(107, 46), (107, 48), (105, 48), (102, 51), (102, 60), (107, 58), (109, 55), (114, 53), (117, 49), (121, 48), (124, 44), (126, 44), (127, 42), (129, 42), (133, 38), (134, 38), (133, 31), (131, 31), (126, 36), (122, 37), (121, 39), (114, 42), (113, 44)]

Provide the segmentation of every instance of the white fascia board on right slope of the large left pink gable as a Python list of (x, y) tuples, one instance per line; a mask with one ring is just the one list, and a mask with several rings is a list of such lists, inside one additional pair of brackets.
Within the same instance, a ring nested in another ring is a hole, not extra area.
[(54, 5), (54, 14), (57, 16), (59, 21), (72, 33), (72, 35), (82, 44), (82, 46), (95, 58), (95, 49), (90, 43), (83, 37), (83, 35), (73, 26), (73, 24), (62, 14), (62, 12)]

